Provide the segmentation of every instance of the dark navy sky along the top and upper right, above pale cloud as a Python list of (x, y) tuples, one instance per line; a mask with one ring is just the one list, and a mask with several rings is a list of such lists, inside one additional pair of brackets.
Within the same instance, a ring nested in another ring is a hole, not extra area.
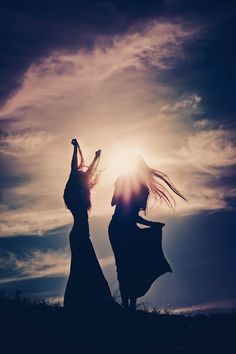
[(182, 17), (211, 30), (206, 29), (207, 40), (189, 47), (195, 60), (171, 74), (176, 80), (189, 78), (188, 85), (205, 97), (205, 107), (226, 115), (235, 109), (228, 94), (235, 74), (234, 14), (231, 1), (215, 1), (214, 7), (210, 1), (175, 0), (1, 2), (0, 76), (4, 84), (0, 98), (4, 100), (20, 85), (32, 62), (54, 49), (90, 48), (97, 35), (122, 33), (147, 19)]

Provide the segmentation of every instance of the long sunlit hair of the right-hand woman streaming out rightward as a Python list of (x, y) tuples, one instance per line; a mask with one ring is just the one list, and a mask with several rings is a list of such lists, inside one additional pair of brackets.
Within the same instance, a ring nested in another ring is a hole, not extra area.
[(149, 188), (151, 196), (166, 203), (172, 210), (175, 207), (175, 199), (171, 192), (187, 201), (166, 174), (149, 167), (142, 157), (138, 157), (137, 172), (140, 179), (143, 180)]

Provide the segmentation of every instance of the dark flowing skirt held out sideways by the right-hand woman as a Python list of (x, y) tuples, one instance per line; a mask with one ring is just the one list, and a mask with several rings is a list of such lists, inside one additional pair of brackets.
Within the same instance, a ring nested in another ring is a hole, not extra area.
[(161, 227), (127, 227), (112, 219), (109, 238), (122, 296), (141, 297), (158, 277), (172, 272), (162, 250)]

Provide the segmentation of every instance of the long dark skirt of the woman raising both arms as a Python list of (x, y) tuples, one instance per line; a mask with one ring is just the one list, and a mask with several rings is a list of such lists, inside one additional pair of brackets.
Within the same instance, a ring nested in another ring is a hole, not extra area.
[(69, 310), (88, 311), (111, 303), (108, 283), (89, 238), (88, 220), (75, 222), (70, 233), (71, 266), (64, 296)]

